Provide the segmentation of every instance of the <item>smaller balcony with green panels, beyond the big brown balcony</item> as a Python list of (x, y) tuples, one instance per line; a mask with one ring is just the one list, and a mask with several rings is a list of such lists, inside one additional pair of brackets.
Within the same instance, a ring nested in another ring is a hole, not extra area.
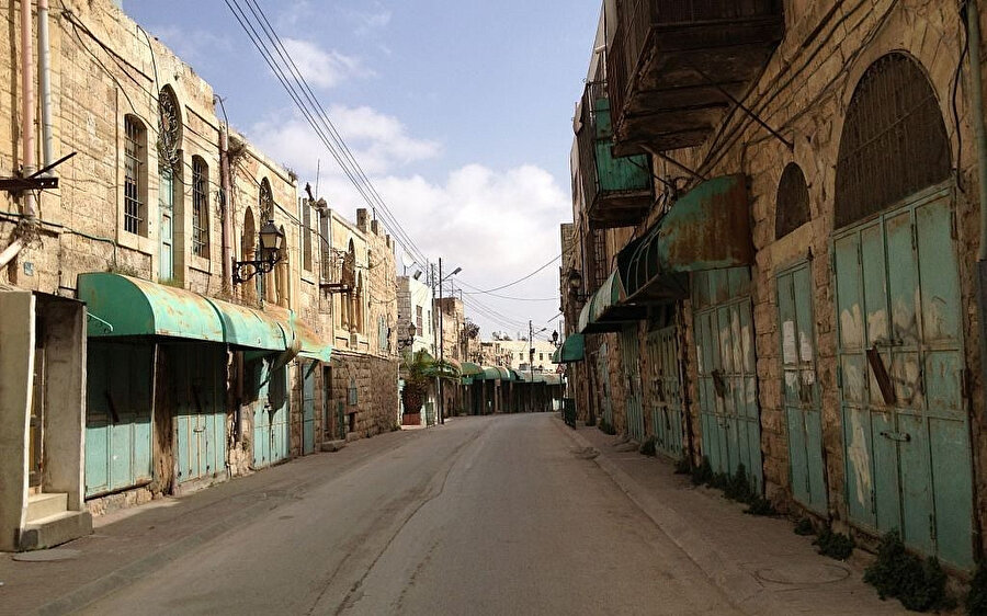
[(610, 100), (603, 82), (586, 87), (581, 110), (576, 141), (590, 226), (608, 229), (636, 225), (654, 199), (650, 157), (614, 158)]

